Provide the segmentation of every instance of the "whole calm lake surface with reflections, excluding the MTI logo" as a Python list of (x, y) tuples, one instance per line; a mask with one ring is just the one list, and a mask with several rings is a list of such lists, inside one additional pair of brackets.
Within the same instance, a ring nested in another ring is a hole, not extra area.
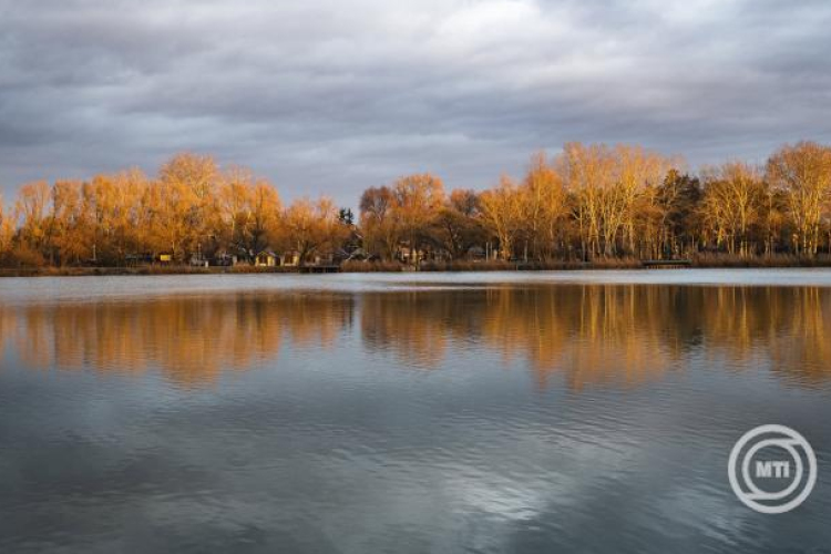
[(831, 271), (1, 279), (0, 332), (3, 553), (831, 548)]

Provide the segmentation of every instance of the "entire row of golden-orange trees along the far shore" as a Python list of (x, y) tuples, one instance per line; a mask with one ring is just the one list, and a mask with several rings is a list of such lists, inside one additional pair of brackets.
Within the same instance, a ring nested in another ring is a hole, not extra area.
[(265, 249), (300, 264), (325, 257), (596, 260), (742, 258), (831, 253), (831, 147), (784, 145), (763, 165), (693, 174), (637, 145), (568, 143), (534, 154), (525, 174), (482, 192), (407, 175), (363, 192), (356, 222), (330, 198), (288, 205), (249, 170), (178, 154), (155, 177), (137, 170), (38, 182), (0, 202), (0, 263), (120, 266), (166, 253), (178, 263)]

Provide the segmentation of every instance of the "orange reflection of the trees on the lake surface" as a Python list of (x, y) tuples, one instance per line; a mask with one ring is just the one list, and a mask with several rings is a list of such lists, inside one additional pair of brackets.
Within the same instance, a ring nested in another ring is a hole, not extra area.
[[(281, 347), (362, 348), (441, 368), (475, 348), (524, 362), (545, 387), (637, 384), (696, 352), (768, 366), (811, 386), (831, 375), (831, 289), (652, 285), (496, 286), (411, 291), (252, 293), (81, 304), (0, 305), (0, 356), (29, 368), (141, 373), (196, 386), (267, 365)], [(343, 340), (338, 340), (343, 337)], [(475, 370), (475, 368), (471, 368)]]

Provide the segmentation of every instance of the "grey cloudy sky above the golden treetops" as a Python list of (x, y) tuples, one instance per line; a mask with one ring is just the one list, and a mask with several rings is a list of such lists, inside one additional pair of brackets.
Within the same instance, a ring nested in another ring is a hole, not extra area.
[(829, 29), (824, 0), (0, 0), (0, 191), (183, 151), (352, 206), (568, 141), (763, 163), (831, 141)]

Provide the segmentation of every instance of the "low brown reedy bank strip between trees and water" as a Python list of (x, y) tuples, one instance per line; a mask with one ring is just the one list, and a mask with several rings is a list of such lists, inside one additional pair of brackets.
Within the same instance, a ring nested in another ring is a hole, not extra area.
[[(691, 258), (689, 267), (706, 268), (800, 268), (831, 267), (831, 256), (814, 258), (797, 256), (772, 256), (741, 258), (726, 255), (699, 255)], [(20, 267), (0, 268), (0, 277), (84, 277), (84, 276), (142, 276), (142, 275), (244, 275), (244, 274), (298, 274), (310, 271), (311, 267), (191, 267), (191, 266), (141, 266), (141, 267)], [(609, 258), (595, 261), (427, 261), (418, 271), (567, 271), (604, 269), (646, 269), (644, 263), (635, 258)], [(339, 268), (341, 273), (410, 273), (416, 268), (398, 263), (347, 261)]]

